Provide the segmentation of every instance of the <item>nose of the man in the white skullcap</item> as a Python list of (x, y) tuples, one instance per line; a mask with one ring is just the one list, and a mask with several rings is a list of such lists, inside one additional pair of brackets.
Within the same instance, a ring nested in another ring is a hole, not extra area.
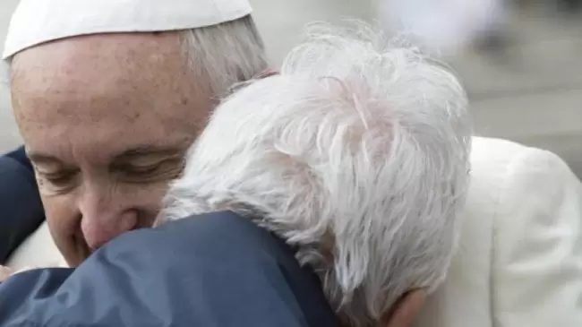
[(79, 203), (81, 232), (92, 250), (97, 250), (138, 225), (138, 211), (123, 194), (96, 191), (83, 194)]

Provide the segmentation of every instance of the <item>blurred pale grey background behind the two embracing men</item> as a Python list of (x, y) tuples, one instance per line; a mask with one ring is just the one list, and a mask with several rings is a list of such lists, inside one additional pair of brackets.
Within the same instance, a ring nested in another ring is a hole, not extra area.
[[(0, 2), (0, 41), (17, 0)], [(466, 85), (479, 135), (553, 151), (582, 176), (582, 0), (251, 0), (277, 65), (306, 22), (355, 17), (405, 30)], [(4, 68), (4, 67), (3, 67)], [(0, 151), (17, 146), (6, 81)]]

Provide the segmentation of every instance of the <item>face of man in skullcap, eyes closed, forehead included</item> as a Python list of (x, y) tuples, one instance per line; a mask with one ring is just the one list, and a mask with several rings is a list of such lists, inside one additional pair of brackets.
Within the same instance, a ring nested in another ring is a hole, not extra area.
[(212, 108), (177, 33), (64, 39), (13, 61), (13, 110), (67, 262), (150, 227)]

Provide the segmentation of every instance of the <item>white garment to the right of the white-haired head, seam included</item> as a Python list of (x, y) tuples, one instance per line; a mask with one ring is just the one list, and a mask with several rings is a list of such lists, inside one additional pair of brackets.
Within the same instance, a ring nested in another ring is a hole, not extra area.
[(474, 138), (459, 252), (415, 327), (582, 326), (582, 183), (549, 151)]

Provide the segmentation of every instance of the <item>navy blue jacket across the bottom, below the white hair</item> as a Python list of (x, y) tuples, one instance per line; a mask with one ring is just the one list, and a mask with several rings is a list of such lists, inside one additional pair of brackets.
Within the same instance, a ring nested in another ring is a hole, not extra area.
[(232, 212), (129, 232), (76, 270), (0, 284), (2, 327), (336, 325), (293, 249)]

